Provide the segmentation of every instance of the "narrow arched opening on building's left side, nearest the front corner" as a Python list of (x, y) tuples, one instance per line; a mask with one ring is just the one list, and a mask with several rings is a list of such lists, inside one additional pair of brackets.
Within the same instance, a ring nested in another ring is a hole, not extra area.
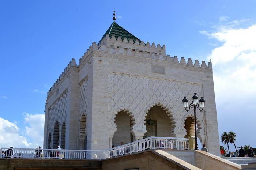
[(80, 143), (80, 150), (86, 150), (87, 137), (86, 137), (86, 116), (85, 116), (85, 114), (82, 114), (82, 116), (80, 118), (79, 143)]

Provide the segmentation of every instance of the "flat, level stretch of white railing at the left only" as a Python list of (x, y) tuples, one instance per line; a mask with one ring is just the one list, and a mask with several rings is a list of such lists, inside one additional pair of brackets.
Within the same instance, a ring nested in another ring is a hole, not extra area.
[(102, 151), (1, 148), (2, 158), (101, 159)]

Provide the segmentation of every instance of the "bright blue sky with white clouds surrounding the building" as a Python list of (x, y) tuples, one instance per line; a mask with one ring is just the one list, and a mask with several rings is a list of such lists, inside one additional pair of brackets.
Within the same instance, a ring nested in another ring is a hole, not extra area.
[(0, 147), (42, 145), (47, 91), (71, 58), (98, 43), (113, 8), (120, 26), (165, 44), (166, 54), (211, 58), (219, 133), (233, 131), (237, 146), (256, 147), (255, 7), (250, 0), (1, 1)]

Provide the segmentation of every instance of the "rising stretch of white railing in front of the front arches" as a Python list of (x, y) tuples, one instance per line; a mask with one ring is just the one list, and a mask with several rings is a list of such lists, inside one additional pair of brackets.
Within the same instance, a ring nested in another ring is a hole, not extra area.
[(188, 139), (176, 137), (147, 137), (103, 151), (103, 157), (110, 158), (147, 149), (188, 149)]

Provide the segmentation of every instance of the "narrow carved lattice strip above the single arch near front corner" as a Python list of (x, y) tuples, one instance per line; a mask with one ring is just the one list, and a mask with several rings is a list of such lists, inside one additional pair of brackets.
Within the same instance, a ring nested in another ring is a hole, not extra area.
[(79, 84), (79, 125), (80, 126), (80, 119), (82, 117), (82, 114), (84, 114), (87, 117), (87, 104), (88, 104), (88, 99), (87, 99), (87, 94), (88, 94), (88, 79), (84, 79), (80, 84)]

